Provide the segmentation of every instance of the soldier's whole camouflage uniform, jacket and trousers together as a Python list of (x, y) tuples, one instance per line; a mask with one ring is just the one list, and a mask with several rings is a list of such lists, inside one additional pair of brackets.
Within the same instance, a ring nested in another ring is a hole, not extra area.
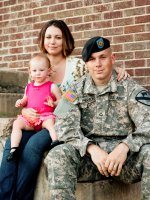
[[(67, 95), (66, 95), (67, 94)], [(101, 91), (85, 75), (66, 93), (55, 110), (56, 131), (65, 144), (46, 158), (51, 200), (74, 200), (78, 181), (106, 179), (86, 155), (95, 143), (111, 152), (120, 142), (130, 151), (120, 176), (125, 183), (141, 180), (144, 200), (150, 199), (150, 97), (131, 78), (111, 80)], [(69, 96), (69, 97), (68, 97)]]

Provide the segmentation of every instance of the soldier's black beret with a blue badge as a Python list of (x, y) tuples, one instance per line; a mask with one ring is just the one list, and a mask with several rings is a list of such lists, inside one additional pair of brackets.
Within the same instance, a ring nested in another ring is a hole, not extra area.
[(87, 62), (92, 53), (103, 51), (110, 47), (110, 41), (106, 38), (96, 36), (89, 39), (82, 50), (82, 59)]

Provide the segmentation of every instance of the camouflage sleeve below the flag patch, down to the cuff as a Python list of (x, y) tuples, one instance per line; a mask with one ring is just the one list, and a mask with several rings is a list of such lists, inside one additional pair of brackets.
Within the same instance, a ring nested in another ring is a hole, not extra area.
[(76, 102), (62, 97), (54, 114), (56, 115), (55, 130), (60, 141), (73, 145), (80, 155), (86, 154), (86, 147), (91, 140), (84, 136), (80, 126), (80, 110)]

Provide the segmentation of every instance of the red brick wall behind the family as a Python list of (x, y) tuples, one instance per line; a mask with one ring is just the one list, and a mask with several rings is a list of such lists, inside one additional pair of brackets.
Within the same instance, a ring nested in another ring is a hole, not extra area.
[(0, 1), (0, 68), (25, 69), (38, 51), (37, 35), (50, 19), (63, 19), (80, 56), (96, 35), (111, 40), (117, 65), (150, 89), (149, 0), (3, 0)]

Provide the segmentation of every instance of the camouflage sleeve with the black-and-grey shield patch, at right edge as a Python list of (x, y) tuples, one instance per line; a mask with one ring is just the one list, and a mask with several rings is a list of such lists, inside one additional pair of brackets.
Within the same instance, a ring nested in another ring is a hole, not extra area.
[(150, 143), (150, 95), (138, 86), (128, 98), (128, 111), (135, 130), (123, 142), (129, 146), (130, 151), (138, 152), (141, 146)]

